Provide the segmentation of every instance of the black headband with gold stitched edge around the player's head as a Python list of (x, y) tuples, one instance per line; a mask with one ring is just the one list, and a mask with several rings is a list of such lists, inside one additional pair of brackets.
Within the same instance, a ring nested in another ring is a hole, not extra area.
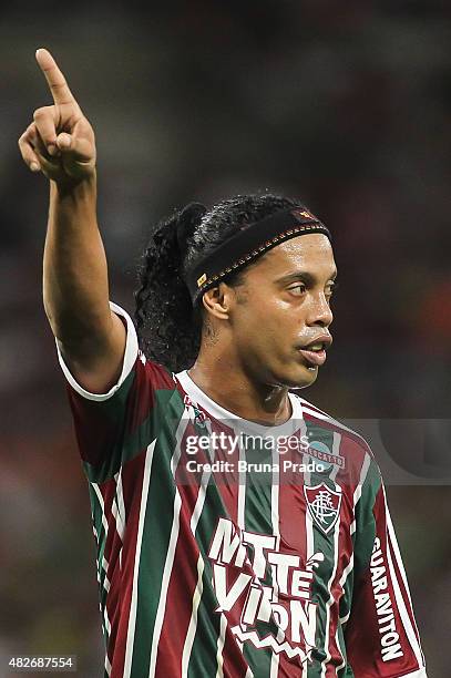
[(256, 257), (288, 238), (309, 233), (324, 233), (329, 240), (328, 228), (305, 208), (276, 212), (254, 224), (243, 225), (237, 233), (204, 257), (186, 276), (193, 306), (211, 287), (215, 287), (227, 274), (243, 268)]

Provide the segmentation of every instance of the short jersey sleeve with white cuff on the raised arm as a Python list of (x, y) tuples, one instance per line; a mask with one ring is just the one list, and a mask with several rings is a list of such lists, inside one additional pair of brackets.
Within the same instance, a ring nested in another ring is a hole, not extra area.
[(57, 341), (65, 377), (75, 436), (88, 479), (102, 483), (145, 450), (155, 436), (158, 391), (175, 389), (172, 372), (146, 360), (129, 314), (110, 301), (126, 328), (126, 345), (117, 382), (105, 393), (91, 393), (71, 374)]

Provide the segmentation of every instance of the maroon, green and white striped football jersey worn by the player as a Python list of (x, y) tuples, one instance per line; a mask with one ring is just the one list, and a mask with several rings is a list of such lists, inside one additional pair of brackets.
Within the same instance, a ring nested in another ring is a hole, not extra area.
[(139, 350), (85, 391), (57, 340), (88, 479), (109, 678), (426, 678), (367, 442), (288, 392), (265, 427)]

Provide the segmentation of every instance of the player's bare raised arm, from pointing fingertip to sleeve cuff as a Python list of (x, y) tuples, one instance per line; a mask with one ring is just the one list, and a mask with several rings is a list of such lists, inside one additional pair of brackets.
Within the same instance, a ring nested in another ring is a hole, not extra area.
[(50, 181), (43, 304), (76, 381), (102, 393), (121, 372), (125, 329), (110, 310), (106, 257), (96, 220), (94, 132), (64, 75), (37, 50), (53, 105), (37, 109), (19, 138), (23, 161)]

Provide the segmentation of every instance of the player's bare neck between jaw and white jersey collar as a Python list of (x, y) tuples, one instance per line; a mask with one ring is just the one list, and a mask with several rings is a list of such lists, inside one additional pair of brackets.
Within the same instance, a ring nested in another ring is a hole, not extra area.
[(221, 351), (203, 346), (187, 373), (212, 400), (242, 419), (280, 425), (291, 417), (288, 389), (253, 379), (224, 346)]

